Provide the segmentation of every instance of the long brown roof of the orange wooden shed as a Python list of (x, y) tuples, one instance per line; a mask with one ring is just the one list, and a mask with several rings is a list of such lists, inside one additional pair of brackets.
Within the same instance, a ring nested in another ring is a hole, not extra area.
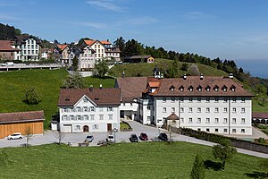
[(0, 124), (23, 123), (23, 122), (44, 121), (44, 120), (45, 115), (43, 111), (0, 114)]

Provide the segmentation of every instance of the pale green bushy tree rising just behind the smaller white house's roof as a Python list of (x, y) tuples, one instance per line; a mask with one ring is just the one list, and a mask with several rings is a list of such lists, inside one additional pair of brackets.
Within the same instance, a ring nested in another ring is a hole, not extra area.
[(84, 88), (84, 79), (79, 72), (73, 72), (63, 81), (63, 89), (81, 89)]

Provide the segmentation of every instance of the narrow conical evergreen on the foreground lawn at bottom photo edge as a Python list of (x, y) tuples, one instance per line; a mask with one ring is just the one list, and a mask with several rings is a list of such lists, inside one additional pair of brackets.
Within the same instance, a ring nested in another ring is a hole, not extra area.
[(191, 179), (205, 178), (205, 165), (200, 154), (197, 154), (196, 156), (196, 160), (194, 162), (190, 176), (191, 176)]

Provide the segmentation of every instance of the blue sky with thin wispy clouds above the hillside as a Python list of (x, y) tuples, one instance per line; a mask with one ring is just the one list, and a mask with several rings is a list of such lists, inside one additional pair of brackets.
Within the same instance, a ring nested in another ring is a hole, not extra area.
[(266, 0), (0, 0), (0, 22), (62, 43), (123, 37), (211, 58), (268, 60)]

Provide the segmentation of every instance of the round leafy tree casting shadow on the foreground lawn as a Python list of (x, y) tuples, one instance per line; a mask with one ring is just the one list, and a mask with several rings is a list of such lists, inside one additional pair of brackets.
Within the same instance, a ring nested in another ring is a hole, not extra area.
[(225, 167), (225, 162), (230, 160), (237, 153), (237, 149), (230, 146), (230, 141), (221, 141), (221, 144), (214, 145), (213, 155), (214, 158), (221, 159), (222, 169)]

